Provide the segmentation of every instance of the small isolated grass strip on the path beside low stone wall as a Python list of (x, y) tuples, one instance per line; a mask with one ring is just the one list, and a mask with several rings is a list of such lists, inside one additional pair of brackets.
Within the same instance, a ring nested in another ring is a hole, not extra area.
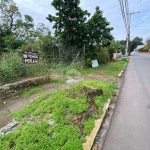
[(43, 92), (43, 89), (41, 89), (41, 88), (32, 88), (32, 89), (29, 89), (29, 90), (23, 92), (21, 94), (21, 97), (27, 98), (35, 93), (42, 93), (42, 92)]

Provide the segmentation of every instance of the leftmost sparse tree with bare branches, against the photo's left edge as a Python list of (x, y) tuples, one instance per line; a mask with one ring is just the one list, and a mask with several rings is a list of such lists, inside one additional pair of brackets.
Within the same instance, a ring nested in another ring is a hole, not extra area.
[(1, 53), (8, 49), (16, 49), (22, 45), (22, 41), (15, 36), (21, 14), (13, 0), (1, 0), (0, 2), (0, 50)]

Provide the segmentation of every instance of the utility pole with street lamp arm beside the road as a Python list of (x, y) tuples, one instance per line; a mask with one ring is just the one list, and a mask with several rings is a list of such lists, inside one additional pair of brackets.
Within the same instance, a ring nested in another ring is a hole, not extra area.
[[(127, 15), (129, 15), (129, 24), (128, 24), (128, 31), (127, 31), (127, 43), (126, 43), (126, 56), (128, 55), (128, 49), (129, 49), (129, 42), (130, 42), (130, 25), (131, 25), (131, 16), (134, 14), (140, 13), (140, 11), (138, 12), (132, 12), (129, 13)], [(129, 51), (130, 54), (130, 51)]]

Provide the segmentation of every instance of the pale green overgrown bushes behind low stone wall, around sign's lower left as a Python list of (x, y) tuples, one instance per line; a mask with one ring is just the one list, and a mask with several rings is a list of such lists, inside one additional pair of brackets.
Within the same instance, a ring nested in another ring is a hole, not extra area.
[(0, 83), (14, 82), (22, 77), (41, 76), (48, 73), (44, 62), (24, 64), (18, 52), (4, 53), (0, 60)]

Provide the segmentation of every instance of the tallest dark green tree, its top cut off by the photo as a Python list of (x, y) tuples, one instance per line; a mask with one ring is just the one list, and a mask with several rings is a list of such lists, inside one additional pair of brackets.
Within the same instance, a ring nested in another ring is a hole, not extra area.
[(80, 0), (53, 0), (52, 5), (58, 11), (56, 16), (48, 15), (50, 22), (55, 22), (55, 36), (71, 46), (83, 46), (85, 39), (86, 16), (90, 14), (79, 7)]

